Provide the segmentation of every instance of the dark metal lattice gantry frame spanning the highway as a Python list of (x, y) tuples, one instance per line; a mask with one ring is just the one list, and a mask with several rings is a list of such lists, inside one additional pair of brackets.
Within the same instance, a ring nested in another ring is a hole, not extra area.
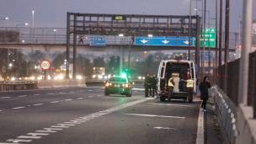
[[(190, 25), (190, 27), (189, 27)], [(190, 30), (189, 30), (190, 29)], [(200, 17), (189, 15), (139, 15), (67, 12), (67, 73), (69, 78), (70, 35), (73, 35), (73, 75), (76, 77), (77, 35), (153, 35), (196, 38), (195, 63), (200, 61)], [(190, 42), (190, 41), (189, 41)], [(129, 51), (130, 52), (130, 51)]]

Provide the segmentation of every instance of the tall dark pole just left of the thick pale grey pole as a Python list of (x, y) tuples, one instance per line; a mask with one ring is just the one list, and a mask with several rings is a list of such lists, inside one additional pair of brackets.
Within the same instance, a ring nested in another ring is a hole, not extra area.
[(225, 79), (224, 93), (227, 93), (227, 65), (229, 55), (229, 0), (226, 0), (226, 19), (225, 19)]

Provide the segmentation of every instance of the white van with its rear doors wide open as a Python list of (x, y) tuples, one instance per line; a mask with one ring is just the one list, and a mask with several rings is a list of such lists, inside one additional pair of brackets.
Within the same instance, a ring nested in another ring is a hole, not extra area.
[(194, 92), (196, 90), (196, 76), (194, 61), (163, 60), (160, 62), (157, 73), (157, 94), (161, 101), (168, 98), (168, 79), (174, 75), (174, 88), (172, 99), (184, 99), (187, 101), (186, 80), (188, 76), (194, 80)]

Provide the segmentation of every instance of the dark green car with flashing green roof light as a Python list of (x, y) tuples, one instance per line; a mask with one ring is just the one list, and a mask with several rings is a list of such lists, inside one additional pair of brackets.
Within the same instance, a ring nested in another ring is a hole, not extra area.
[(121, 93), (126, 97), (131, 97), (132, 87), (128, 77), (110, 77), (105, 83), (104, 95)]

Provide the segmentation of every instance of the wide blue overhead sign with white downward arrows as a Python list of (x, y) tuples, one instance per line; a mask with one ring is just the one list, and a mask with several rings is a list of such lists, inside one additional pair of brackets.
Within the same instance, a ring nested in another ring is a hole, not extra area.
[[(136, 45), (189, 45), (189, 36), (136, 36)], [(194, 45), (193, 37), (190, 39), (190, 44)]]

